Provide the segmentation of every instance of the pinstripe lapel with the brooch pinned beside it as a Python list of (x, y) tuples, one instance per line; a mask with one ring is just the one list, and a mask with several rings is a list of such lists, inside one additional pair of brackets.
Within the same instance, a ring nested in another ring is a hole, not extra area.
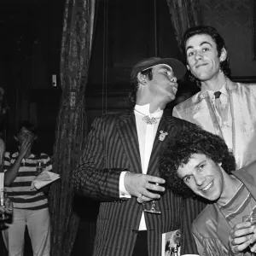
[(166, 114), (163, 114), (163, 117), (160, 119), (160, 124), (158, 126), (157, 132), (155, 134), (154, 138), (154, 145), (152, 148), (149, 164), (148, 164), (148, 174), (149, 175), (154, 175), (154, 176), (159, 176), (158, 172), (158, 160), (159, 160), (159, 155), (160, 155), (160, 150), (165, 144), (165, 141), (160, 141), (159, 136), (160, 136), (160, 131), (167, 131), (168, 135), (170, 136), (170, 126), (171, 124), (168, 124), (168, 120), (166, 118)]

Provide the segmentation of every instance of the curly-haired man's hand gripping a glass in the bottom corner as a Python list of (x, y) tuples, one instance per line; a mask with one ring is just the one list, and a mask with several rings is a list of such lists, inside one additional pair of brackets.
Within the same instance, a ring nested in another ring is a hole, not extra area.
[[(250, 222), (242, 222), (236, 224), (232, 230), (230, 230), (229, 246), (230, 253), (232, 255), (243, 255), (242, 251), (245, 250), (251, 243), (256, 241), (255, 226)], [(253, 246), (254, 247), (254, 246)], [(253, 250), (253, 247), (251, 250)]]

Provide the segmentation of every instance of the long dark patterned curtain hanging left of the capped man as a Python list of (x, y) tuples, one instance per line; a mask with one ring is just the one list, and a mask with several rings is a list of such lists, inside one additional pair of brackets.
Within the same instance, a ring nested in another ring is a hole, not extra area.
[(84, 91), (90, 62), (95, 0), (66, 0), (61, 42), (61, 106), (53, 155), (53, 170), (61, 179), (49, 190), (51, 255), (72, 252), (79, 218), (73, 212), (72, 172), (86, 136)]

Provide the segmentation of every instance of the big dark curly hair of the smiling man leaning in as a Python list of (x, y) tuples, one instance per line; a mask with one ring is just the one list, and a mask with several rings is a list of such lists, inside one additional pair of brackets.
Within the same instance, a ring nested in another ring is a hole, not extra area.
[(224, 139), (204, 131), (199, 126), (180, 131), (174, 139), (170, 139), (160, 154), (160, 175), (166, 179), (166, 186), (178, 195), (195, 195), (183, 180), (177, 176), (177, 169), (186, 165), (192, 154), (205, 154), (215, 163), (222, 163), (228, 174), (236, 170), (236, 160)]

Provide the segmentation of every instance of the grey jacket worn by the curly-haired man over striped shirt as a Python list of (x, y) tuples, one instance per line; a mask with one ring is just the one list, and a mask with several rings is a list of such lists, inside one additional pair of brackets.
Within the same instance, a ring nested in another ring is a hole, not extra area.
[[(249, 166), (232, 172), (241, 183), (244, 183), (249, 193), (256, 200), (256, 161)], [(229, 247), (230, 224), (216, 203), (209, 204), (195, 219), (192, 231), (198, 252), (201, 256), (227, 256)], [(249, 256), (251, 253), (243, 253)]]

